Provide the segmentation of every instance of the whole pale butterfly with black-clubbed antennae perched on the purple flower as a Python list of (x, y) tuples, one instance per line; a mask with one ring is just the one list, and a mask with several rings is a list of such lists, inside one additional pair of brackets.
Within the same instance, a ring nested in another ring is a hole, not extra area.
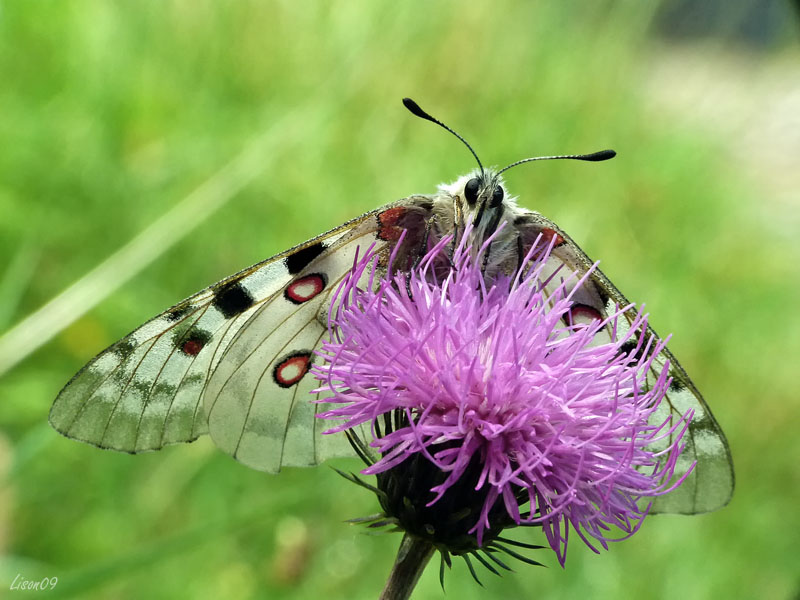
[[(312, 393), (309, 373), (327, 333), (331, 299), (354, 261), (372, 247), (394, 253), (400, 269), (413, 266), (431, 236), (473, 242), (495, 235), (484, 256), (487, 274), (519, 264), (537, 238), (552, 246), (550, 261), (562, 273), (586, 274), (594, 264), (555, 223), (517, 206), (501, 174), (543, 159), (600, 161), (587, 155), (528, 158), (499, 171), (485, 169), (472, 147), (409, 98), (414, 115), (458, 137), (479, 170), (365, 213), (339, 227), (240, 271), (190, 296), (146, 322), (92, 359), (61, 390), (50, 423), (63, 435), (101, 448), (139, 453), (191, 442), (209, 434), (237, 461), (266, 472), (352, 456), (345, 436), (322, 435), (330, 425), (316, 414), (326, 405)], [(472, 227), (465, 228), (465, 224)], [(574, 296), (571, 316), (604, 319), (630, 303), (595, 269)], [(630, 323), (635, 311), (625, 313)], [(648, 328), (643, 335), (655, 335)], [(648, 384), (669, 362), (672, 384), (664, 411), (681, 418), (692, 409), (676, 474), (696, 466), (675, 491), (655, 499), (653, 512), (700, 513), (724, 506), (734, 485), (725, 435), (675, 357), (664, 349)], [(659, 422), (665, 414), (655, 415)]]

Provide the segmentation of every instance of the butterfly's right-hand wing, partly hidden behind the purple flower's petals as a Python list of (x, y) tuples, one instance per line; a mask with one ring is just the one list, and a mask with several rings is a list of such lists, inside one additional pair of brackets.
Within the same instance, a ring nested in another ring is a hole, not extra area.
[[(559, 270), (564, 276), (576, 272), (580, 277), (594, 264), (566, 233), (538, 213), (524, 213), (517, 218), (515, 227), (520, 232), (524, 248), (530, 247), (540, 233), (547, 241), (555, 237), (550, 272)], [(605, 318), (617, 307), (630, 304), (599, 269), (593, 271), (574, 300), (576, 320)], [(635, 310), (625, 313), (628, 326), (635, 315)], [(658, 337), (650, 327), (646, 335)], [(633, 348), (635, 344), (631, 343), (631, 346)], [(716, 510), (727, 504), (733, 493), (733, 462), (728, 442), (708, 404), (668, 349), (655, 357), (648, 384), (652, 386), (655, 383), (667, 361), (672, 384), (665, 395), (663, 410), (653, 415), (653, 423), (663, 422), (668, 413), (673, 419), (680, 419), (692, 409), (694, 416), (683, 439), (685, 448), (675, 468), (676, 476), (683, 475), (693, 462), (697, 464), (677, 489), (654, 499), (651, 512), (695, 514)], [(671, 439), (666, 439), (663, 446), (671, 442)]]

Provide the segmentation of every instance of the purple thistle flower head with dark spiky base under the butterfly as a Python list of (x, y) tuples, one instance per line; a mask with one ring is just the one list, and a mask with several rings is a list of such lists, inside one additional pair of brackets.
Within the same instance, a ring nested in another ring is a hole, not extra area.
[(623, 330), (631, 307), (575, 322), (591, 271), (553, 273), (552, 242), (534, 244), (524, 274), (487, 281), (491, 240), (462, 241), (452, 263), (449, 241), (382, 278), (370, 250), (337, 290), (313, 368), (333, 394), (320, 416), (341, 421), (329, 432), (371, 431), (356, 443), (386, 516), (445, 551), (475, 555), (508, 542), (505, 527), (537, 525), (563, 566), (570, 529), (595, 552), (592, 538), (629, 537), (650, 508), (641, 499), (688, 475), (672, 481), (691, 411), (652, 422), (670, 384), (653, 362), (665, 342), (641, 335), (641, 310)]

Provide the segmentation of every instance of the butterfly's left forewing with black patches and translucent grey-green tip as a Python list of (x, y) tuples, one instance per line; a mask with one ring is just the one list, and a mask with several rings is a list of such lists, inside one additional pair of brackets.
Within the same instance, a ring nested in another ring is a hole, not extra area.
[[(206, 433), (200, 399), (227, 346), (243, 327), (257, 324), (282, 329), (303, 348), (313, 349), (316, 338), (299, 320), (286, 321), (283, 312), (272, 316), (264, 308), (280, 305), (276, 299), (283, 298), (296, 273), (315, 257), (355, 231), (379, 231), (380, 212), (253, 265), (148, 321), (67, 383), (50, 411), (50, 423), (67, 437), (131, 453), (190, 442)], [(296, 291), (308, 289), (299, 286)], [(251, 320), (257, 314), (275, 322)]]

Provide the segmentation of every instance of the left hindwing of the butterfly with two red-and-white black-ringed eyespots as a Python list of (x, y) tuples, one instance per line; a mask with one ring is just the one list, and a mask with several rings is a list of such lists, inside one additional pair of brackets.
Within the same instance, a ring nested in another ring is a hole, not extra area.
[(312, 403), (319, 385), (308, 370), (326, 335), (332, 296), (357, 257), (370, 247), (384, 257), (400, 233), (400, 254), (413, 253), (424, 228), (429, 200), (409, 198), (371, 213), (324, 252), (297, 262), (273, 294), (239, 329), (214, 371), (203, 406), (214, 443), (245, 465), (267, 472), (352, 456), (343, 435), (322, 435), (333, 424), (317, 419), (324, 404)]

